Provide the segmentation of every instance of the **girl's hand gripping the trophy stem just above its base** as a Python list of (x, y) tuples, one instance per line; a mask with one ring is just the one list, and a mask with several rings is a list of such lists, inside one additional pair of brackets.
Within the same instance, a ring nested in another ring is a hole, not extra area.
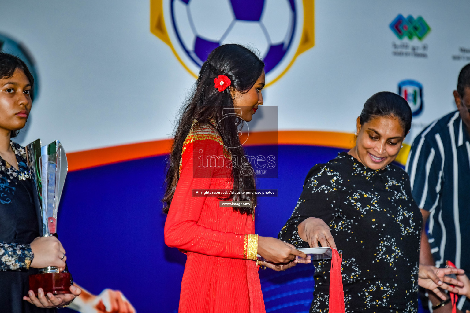
[(31, 267), (44, 268), (48, 266), (59, 267), (59, 271), (65, 268), (65, 250), (59, 239), (54, 236), (36, 237), (31, 245), (34, 258), (31, 261)]

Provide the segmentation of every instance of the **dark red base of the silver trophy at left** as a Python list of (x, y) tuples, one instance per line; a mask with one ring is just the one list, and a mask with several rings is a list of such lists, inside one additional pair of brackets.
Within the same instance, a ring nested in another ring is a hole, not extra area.
[(44, 273), (29, 276), (30, 290), (38, 295), (38, 288), (53, 295), (63, 295), (70, 292), (70, 273)]

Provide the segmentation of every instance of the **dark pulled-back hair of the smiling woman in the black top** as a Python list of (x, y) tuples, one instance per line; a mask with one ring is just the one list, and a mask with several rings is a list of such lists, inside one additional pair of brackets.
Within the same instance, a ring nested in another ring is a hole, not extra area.
[(367, 99), (360, 113), (360, 125), (369, 122), (379, 116), (396, 117), (405, 136), (411, 128), (411, 108), (407, 100), (393, 92), (377, 92)]

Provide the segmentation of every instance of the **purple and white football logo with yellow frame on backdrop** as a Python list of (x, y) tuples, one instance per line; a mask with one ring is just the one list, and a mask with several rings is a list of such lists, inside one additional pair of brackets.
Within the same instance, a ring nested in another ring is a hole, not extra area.
[(254, 47), (268, 85), (313, 47), (313, 0), (150, 0), (150, 31), (195, 77), (218, 46)]

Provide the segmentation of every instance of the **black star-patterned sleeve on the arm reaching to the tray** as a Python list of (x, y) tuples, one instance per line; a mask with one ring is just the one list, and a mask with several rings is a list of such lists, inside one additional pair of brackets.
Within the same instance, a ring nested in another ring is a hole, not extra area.
[[(338, 189), (341, 178), (329, 164), (317, 164), (307, 174), (304, 189), (297, 205), (278, 238), (296, 248), (308, 248), (308, 243), (298, 236), (298, 224), (309, 217), (320, 218), (331, 224), (339, 208)], [(312, 211), (314, 207), (314, 211)]]

